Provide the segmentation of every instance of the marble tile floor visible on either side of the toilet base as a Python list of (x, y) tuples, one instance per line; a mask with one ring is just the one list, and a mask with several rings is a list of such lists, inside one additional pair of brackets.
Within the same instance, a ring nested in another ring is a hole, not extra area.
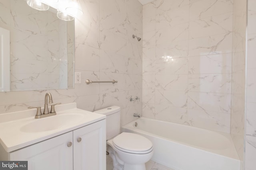
[[(109, 156), (107, 156), (107, 170), (112, 170), (112, 169), (113, 169), (112, 159)], [(166, 166), (163, 166), (161, 164), (158, 164), (150, 160), (146, 163), (146, 170), (174, 170), (174, 169), (168, 168)]]

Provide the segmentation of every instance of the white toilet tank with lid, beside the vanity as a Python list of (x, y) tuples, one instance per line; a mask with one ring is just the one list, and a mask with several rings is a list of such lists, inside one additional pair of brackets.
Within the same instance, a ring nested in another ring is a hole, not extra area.
[(112, 137), (120, 133), (120, 107), (111, 106), (104, 109), (96, 110), (94, 113), (99, 113), (106, 115), (106, 139), (111, 139)]

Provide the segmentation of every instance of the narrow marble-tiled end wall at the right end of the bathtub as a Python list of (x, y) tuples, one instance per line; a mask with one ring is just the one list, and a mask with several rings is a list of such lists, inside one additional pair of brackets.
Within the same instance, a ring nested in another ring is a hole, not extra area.
[(230, 133), (244, 169), (246, 0), (233, 1), (232, 95)]

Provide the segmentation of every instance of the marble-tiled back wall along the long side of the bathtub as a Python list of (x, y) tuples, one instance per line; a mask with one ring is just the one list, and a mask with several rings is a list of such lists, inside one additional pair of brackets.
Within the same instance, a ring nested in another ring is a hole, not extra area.
[(230, 133), (233, 0), (143, 6), (143, 116)]

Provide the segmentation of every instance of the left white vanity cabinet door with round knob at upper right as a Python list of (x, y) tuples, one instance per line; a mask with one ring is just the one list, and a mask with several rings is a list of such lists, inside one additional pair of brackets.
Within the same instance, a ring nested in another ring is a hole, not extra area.
[(27, 160), (28, 170), (72, 170), (72, 132), (10, 152), (9, 160)]

